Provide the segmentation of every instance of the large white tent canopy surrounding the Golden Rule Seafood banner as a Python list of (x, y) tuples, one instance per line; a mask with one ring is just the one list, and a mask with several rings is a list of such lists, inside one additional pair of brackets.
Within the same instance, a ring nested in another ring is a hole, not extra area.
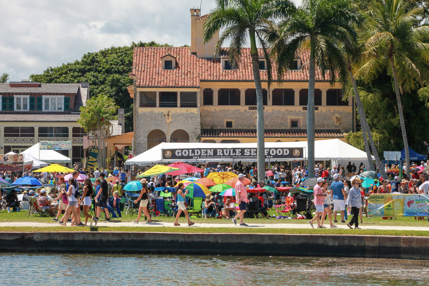
[[(127, 165), (151, 165), (159, 163), (172, 162), (190, 162), (195, 163), (195, 160), (162, 160), (162, 149), (187, 149), (187, 148), (256, 148), (256, 143), (161, 143), (136, 157), (127, 160)], [(271, 161), (293, 161), (307, 160), (307, 141), (297, 142), (265, 142), (265, 148), (303, 148), (304, 154), (300, 158), (266, 158), (266, 162)], [(359, 161), (368, 164), (366, 153), (359, 150), (339, 139), (317, 140), (314, 143), (314, 159), (315, 160), (337, 160), (338, 163), (344, 165), (343, 161)], [(374, 159), (374, 157), (373, 157)], [(341, 162), (340, 162), (341, 160)], [(239, 161), (239, 159), (235, 159)], [(248, 161), (248, 159), (243, 159)], [(256, 160), (255, 160), (256, 161)], [(231, 159), (204, 159), (202, 162), (231, 162)]]

